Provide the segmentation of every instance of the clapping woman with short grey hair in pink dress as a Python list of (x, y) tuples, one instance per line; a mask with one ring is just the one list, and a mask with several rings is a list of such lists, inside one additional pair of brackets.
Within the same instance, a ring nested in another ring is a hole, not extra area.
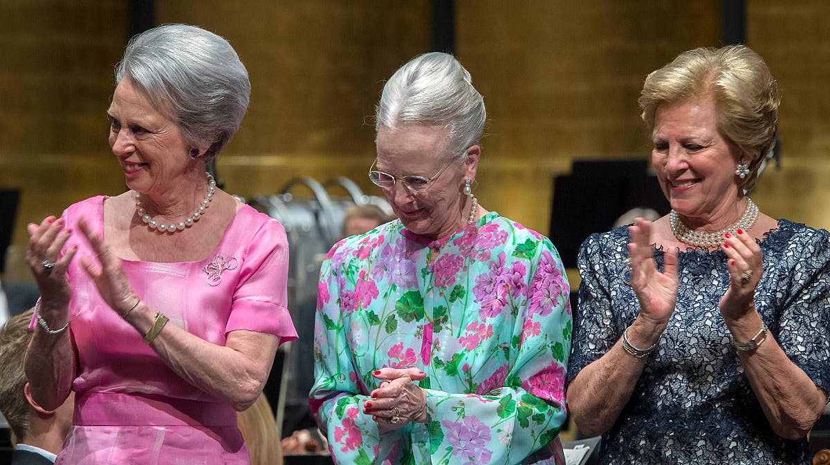
[(285, 231), (205, 172), (247, 110), (247, 70), (222, 37), (173, 24), (129, 42), (116, 83), (129, 191), (28, 225), (32, 398), (76, 393), (56, 463), (248, 463), (235, 410), (295, 330)]

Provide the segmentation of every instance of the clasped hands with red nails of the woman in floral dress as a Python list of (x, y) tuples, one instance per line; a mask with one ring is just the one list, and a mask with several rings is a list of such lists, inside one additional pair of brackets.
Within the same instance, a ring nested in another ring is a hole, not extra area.
[[(409, 422), (426, 423), (427, 391), (413, 383), (425, 379), (426, 373), (417, 368), (381, 368), (373, 375), (383, 381), (370, 393), (372, 399), (365, 402), (364, 413), (372, 415), (381, 432), (403, 428)], [(393, 423), (396, 417), (398, 422)]]

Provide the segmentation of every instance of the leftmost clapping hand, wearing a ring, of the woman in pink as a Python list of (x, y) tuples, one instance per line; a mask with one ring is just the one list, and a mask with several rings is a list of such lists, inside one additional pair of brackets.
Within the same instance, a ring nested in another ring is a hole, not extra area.
[[(32, 269), (41, 293), (41, 315), (50, 321), (66, 321), (72, 297), (69, 280), (66, 279), (66, 269), (78, 248), (72, 246), (60, 257), (61, 249), (72, 235), (71, 228), (64, 225), (63, 218), (49, 216), (41, 221), (40, 225), (30, 223), (27, 226), (29, 249), (26, 252), (26, 262)], [(47, 268), (46, 264), (50, 263), (54, 265)]]

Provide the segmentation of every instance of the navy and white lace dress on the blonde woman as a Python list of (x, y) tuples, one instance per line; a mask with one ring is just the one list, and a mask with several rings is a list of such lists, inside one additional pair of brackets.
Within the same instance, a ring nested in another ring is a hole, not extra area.
[[(591, 235), (579, 250), (569, 382), (637, 317), (639, 303), (623, 279), (627, 242), (620, 227)], [(779, 220), (760, 246), (764, 275), (755, 306), (789, 359), (830, 392), (830, 233)], [(662, 271), (661, 249), (654, 259)], [(675, 311), (603, 435), (600, 463), (812, 463), (806, 439), (773, 432), (730, 343), (718, 308), (730, 280), (725, 254), (686, 249), (678, 277)]]

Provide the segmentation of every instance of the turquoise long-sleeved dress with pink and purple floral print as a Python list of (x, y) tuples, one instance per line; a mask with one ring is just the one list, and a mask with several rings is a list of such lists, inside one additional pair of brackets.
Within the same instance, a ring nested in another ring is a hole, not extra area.
[[(310, 404), (335, 463), (563, 464), (569, 285), (544, 236), (490, 212), (439, 240), (395, 220), (320, 271)], [(427, 423), (380, 434), (384, 366), (427, 373)]]

